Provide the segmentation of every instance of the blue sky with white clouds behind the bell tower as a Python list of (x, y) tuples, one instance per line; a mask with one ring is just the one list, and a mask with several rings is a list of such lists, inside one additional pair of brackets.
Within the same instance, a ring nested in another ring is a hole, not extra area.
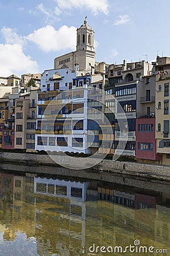
[(169, 10), (169, 0), (1, 0), (0, 76), (52, 69), (55, 57), (75, 51), (85, 16), (96, 61), (170, 56)]

